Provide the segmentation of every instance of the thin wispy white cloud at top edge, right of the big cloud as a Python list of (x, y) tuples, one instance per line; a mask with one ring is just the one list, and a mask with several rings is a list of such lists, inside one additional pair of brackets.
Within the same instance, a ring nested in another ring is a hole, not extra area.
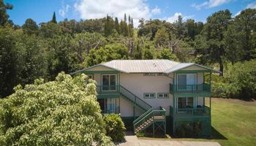
[(192, 7), (195, 7), (195, 9), (199, 10), (202, 7), (205, 8), (211, 8), (211, 7), (217, 7), (222, 4), (229, 3), (231, 0), (208, 0), (201, 4), (192, 4)]

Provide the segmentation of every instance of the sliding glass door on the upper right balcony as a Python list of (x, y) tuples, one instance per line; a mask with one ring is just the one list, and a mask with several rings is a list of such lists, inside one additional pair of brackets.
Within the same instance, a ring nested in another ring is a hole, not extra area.
[(197, 84), (197, 74), (177, 74), (177, 90), (195, 90)]

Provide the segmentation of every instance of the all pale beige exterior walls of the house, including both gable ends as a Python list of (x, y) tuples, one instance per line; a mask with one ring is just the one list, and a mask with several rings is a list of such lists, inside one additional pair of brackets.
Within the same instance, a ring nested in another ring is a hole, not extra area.
[[(205, 70), (199, 66), (190, 66), (182, 70)], [(105, 66), (97, 66), (88, 71), (113, 71)], [(94, 74), (94, 80), (96, 80), (97, 85), (101, 85), (101, 75), (100, 73)], [(143, 74), (117, 74), (118, 82), (124, 88), (134, 93), (143, 101), (150, 104), (154, 109), (158, 109), (162, 106), (166, 110), (166, 115), (169, 115), (170, 105), (173, 106), (173, 95), (170, 94), (170, 83), (173, 83), (173, 74), (166, 76), (144, 76)], [(203, 83), (203, 72), (197, 72), (197, 83)], [(155, 93), (154, 99), (144, 99), (143, 93)], [(168, 99), (157, 98), (157, 93), (169, 93)], [(196, 100), (195, 100), (196, 101)], [(203, 105), (203, 97), (197, 97), (197, 105)], [(120, 98), (120, 112), (122, 117), (132, 117), (134, 114), (134, 107), (124, 98)], [(135, 108), (135, 116), (140, 116), (143, 112)]]

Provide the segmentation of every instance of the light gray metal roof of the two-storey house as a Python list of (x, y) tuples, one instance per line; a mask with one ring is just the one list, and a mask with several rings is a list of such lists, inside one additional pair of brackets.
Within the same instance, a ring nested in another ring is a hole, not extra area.
[(97, 67), (97, 66), (105, 66), (110, 69), (117, 70), (118, 72), (125, 73), (171, 73), (176, 72), (179, 69), (184, 69), (189, 66), (200, 66), (204, 69), (209, 69), (213, 72), (221, 73), (215, 69), (208, 68), (206, 66), (201, 66), (195, 63), (179, 63), (176, 61), (170, 61), (166, 59), (155, 59), (155, 60), (113, 60), (108, 61), (106, 63), (97, 64), (95, 66), (91, 66), (86, 69), (81, 69), (80, 71), (73, 72), (71, 74), (77, 74), (78, 72), (83, 72), (88, 69)]

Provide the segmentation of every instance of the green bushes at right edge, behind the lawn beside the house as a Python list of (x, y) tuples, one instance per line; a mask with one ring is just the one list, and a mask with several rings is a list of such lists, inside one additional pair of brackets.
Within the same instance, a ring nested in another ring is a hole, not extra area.
[(238, 62), (228, 66), (223, 78), (215, 78), (211, 96), (251, 99), (256, 97), (256, 60)]

